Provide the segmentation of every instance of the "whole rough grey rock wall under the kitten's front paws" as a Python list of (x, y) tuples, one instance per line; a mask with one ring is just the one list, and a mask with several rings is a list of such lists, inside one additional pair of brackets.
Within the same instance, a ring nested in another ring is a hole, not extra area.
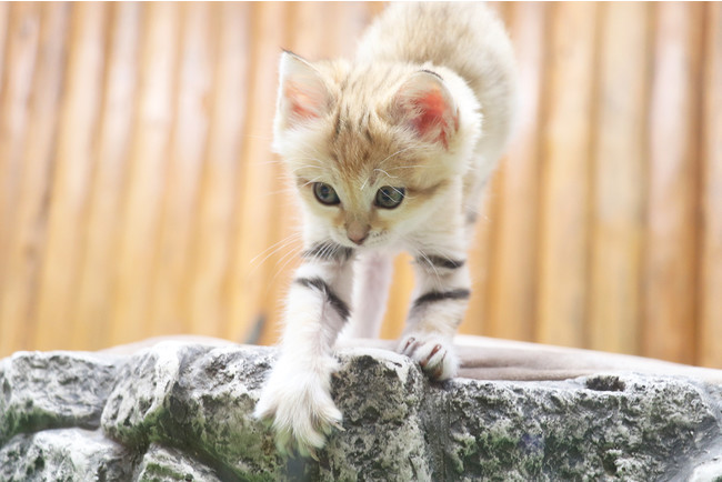
[(429, 383), (348, 349), (319, 461), (283, 459), (251, 413), (275, 350), (166, 342), (0, 361), (0, 480), (722, 481), (722, 390), (684, 376)]

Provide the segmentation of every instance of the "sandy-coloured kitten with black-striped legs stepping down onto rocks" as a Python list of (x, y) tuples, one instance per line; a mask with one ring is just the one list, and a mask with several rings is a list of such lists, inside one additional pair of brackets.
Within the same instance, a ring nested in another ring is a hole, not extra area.
[(465, 251), (515, 94), (509, 38), (478, 3), (393, 4), (352, 62), (282, 54), (273, 149), (301, 198), (304, 262), (255, 410), (281, 451), (313, 455), (340, 428), (333, 347), (349, 322), (351, 335), (378, 335), (399, 250), (418, 279), (399, 352), (431, 379), (455, 374)]

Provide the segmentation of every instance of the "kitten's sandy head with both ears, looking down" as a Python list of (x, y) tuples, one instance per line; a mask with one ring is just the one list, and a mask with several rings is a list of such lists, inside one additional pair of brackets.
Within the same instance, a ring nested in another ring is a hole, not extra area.
[(273, 148), (320, 237), (389, 245), (460, 199), (450, 190), (479, 134), (474, 108), (460, 109), (430, 70), (312, 64), (285, 52)]

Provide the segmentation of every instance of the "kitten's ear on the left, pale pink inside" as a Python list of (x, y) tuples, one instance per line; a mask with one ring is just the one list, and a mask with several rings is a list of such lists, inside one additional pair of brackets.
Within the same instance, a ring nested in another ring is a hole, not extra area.
[(321, 73), (291, 52), (281, 56), (278, 114), (285, 128), (323, 118), (331, 96)]

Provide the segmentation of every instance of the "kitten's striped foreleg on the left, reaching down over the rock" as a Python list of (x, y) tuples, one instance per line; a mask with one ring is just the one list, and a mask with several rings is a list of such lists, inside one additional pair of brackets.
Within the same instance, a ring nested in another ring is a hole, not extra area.
[(305, 262), (289, 289), (281, 355), (255, 409), (257, 416), (272, 419), (279, 449), (302, 455), (313, 455), (341, 422), (331, 374), (333, 345), (350, 315), (353, 252), (321, 244), (302, 253)]

